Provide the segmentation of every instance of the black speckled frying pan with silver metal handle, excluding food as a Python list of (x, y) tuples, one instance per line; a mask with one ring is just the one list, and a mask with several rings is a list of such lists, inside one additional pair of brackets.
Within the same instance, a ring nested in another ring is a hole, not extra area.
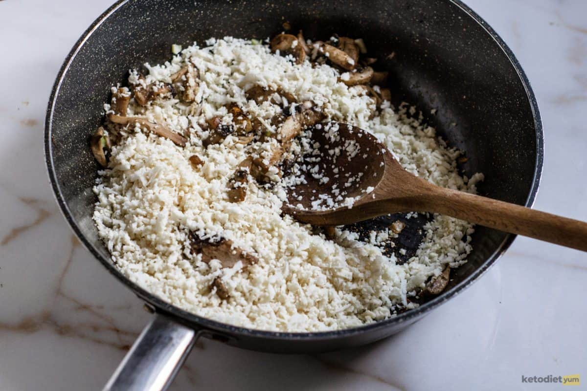
[(264, 39), (281, 32), (284, 21), (295, 32), (303, 28), (308, 38), (327, 39), (333, 33), (363, 38), (369, 56), (390, 72), (392, 103), (416, 105), (449, 145), (465, 152), (464, 174), (485, 174), (480, 193), (520, 205), (534, 201), (543, 157), (534, 94), (510, 49), (457, 0), (120, 1), (87, 29), (65, 59), (45, 130), (46, 163), (63, 215), (106, 270), (154, 312), (106, 389), (164, 389), (200, 336), (267, 352), (323, 352), (369, 344), (463, 291), (514, 240), (511, 234), (477, 227), (468, 263), (454, 271), (443, 294), (394, 318), (340, 331), (234, 327), (180, 310), (127, 280), (110, 260), (92, 221), (98, 166), (88, 140), (103, 120), (110, 86), (124, 83), (130, 68), (169, 59), (173, 43), (185, 47), (226, 35)]

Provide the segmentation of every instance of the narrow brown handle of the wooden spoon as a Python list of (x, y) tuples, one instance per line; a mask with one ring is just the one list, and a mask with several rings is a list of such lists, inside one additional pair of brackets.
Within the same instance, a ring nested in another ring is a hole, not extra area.
[(430, 212), (587, 251), (587, 223), (579, 220), (436, 186), (422, 197)]

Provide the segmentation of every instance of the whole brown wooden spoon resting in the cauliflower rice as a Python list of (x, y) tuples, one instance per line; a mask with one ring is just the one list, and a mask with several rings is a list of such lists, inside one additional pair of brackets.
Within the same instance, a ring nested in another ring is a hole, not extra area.
[[(301, 222), (345, 225), (389, 213), (431, 212), (587, 251), (587, 223), (435, 186), (403, 169), (375, 136), (351, 125), (318, 124), (309, 131), (314, 149), (295, 175), (305, 183), (288, 188), (283, 207)], [(345, 198), (355, 199), (352, 208)]]

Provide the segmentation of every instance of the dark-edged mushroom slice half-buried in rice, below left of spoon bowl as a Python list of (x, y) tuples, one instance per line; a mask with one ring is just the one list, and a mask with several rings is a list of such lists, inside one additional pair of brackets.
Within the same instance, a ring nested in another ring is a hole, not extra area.
[(205, 242), (194, 232), (190, 232), (191, 250), (193, 253), (202, 254), (202, 261), (210, 263), (217, 259), (222, 267), (233, 267), (238, 261), (243, 267), (257, 263), (257, 257), (234, 246), (230, 239), (220, 239), (216, 242)]

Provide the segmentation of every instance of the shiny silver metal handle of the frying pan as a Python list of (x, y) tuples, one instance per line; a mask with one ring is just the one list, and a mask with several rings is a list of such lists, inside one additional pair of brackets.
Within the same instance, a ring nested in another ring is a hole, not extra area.
[(166, 390), (198, 336), (193, 328), (155, 314), (104, 386), (104, 391)]

